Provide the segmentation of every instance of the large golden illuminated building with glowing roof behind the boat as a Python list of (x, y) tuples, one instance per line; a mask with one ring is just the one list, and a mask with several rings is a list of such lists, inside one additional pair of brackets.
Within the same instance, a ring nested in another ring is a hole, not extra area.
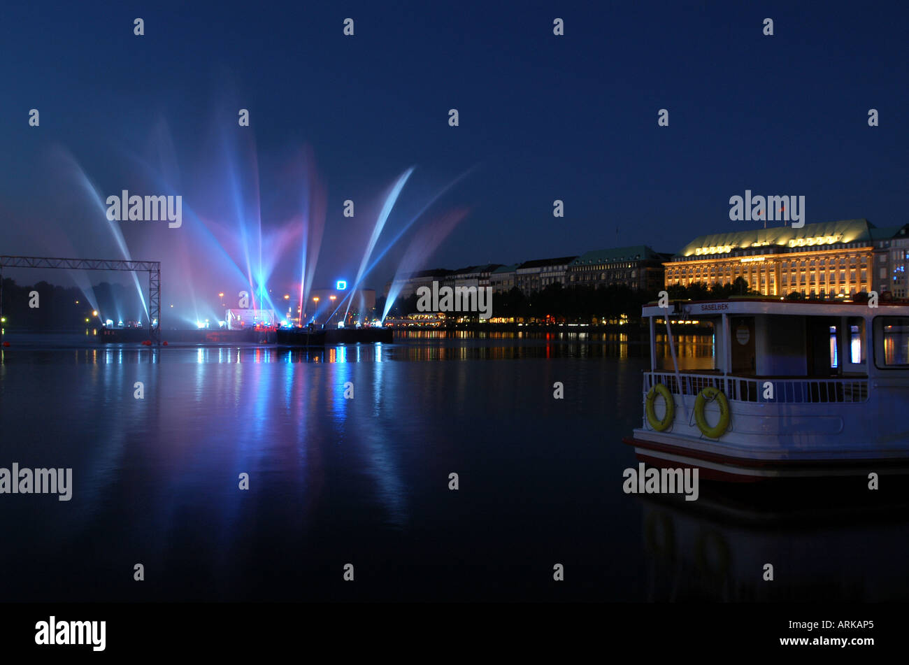
[(864, 219), (702, 235), (665, 266), (665, 284), (733, 283), (764, 295), (845, 297), (872, 290), (875, 237)]

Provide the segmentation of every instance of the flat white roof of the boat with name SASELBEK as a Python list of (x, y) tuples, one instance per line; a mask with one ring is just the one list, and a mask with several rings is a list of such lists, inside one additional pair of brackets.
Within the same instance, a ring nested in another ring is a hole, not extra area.
[[(786, 314), (789, 316), (909, 316), (909, 302), (868, 303), (780, 300), (779, 298), (724, 298), (720, 300), (675, 300), (669, 303), (671, 316), (720, 316), (721, 314)], [(665, 316), (657, 303), (647, 303), (641, 315)]]

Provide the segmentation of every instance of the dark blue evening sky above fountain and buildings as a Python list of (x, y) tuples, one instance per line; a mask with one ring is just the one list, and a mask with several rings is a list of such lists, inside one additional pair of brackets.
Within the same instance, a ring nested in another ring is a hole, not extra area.
[[(675, 252), (696, 235), (746, 228), (728, 218), (729, 197), (745, 189), (804, 195), (808, 223), (909, 222), (905, 3), (679, 5), (8, 5), (0, 253), (49, 253), (49, 237), (80, 233), (38, 203), (55, 197), (45, 177), (54, 146), (115, 193), (133, 168), (125, 155), (147, 153), (164, 121), (193, 183), (219, 159), (202, 138), (213, 119), (241, 106), (266, 212), (280, 198), (269, 164), (312, 146), (334, 239), (322, 261), (338, 263), (323, 282), (355, 271), (360, 250), (335, 252), (337, 239), (362, 247), (368, 236), (362, 215), (341, 216), (344, 199), (375, 214), (411, 165), (390, 228), (475, 167), (434, 208), (471, 211), (429, 259), (447, 267), (616, 244)], [(136, 16), (144, 37), (133, 35)], [(348, 16), (353, 38), (342, 35)], [(564, 36), (552, 33), (556, 16)], [(764, 17), (774, 36), (762, 34)], [(33, 107), (37, 129), (27, 125)], [(457, 128), (447, 124), (452, 107)], [(669, 127), (657, 126), (660, 108)], [(879, 127), (867, 125), (869, 108)], [(552, 215), (555, 198), (563, 219)], [(382, 288), (401, 250), (367, 285)]]

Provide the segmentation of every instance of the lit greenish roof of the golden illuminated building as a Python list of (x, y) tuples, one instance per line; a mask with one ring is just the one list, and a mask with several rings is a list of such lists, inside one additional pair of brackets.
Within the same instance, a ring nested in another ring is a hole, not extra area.
[(794, 247), (835, 243), (858, 243), (872, 240), (874, 224), (866, 219), (805, 224), (802, 228), (773, 226), (730, 233), (701, 235), (686, 244), (676, 257), (731, 253), (752, 247)]

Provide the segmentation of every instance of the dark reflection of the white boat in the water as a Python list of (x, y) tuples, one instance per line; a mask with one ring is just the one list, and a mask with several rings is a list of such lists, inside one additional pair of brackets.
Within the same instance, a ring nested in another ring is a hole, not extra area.
[[(714, 483), (702, 485), (698, 501), (639, 496), (644, 504), (646, 600), (909, 599), (905, 487), (902, 498), (888, 499), (865, 490), (860, 481), (849, 482), (853, 491), (837, 488), (838, 493), (810, 496), (783, 491), (775, 505), (729, 495), (725, 490), (733, 486), (728, 484), (715, 491), (706, 487)], [(756, 488), (750, 487), (754, 494)], [(829, 505), (834, 496), (841, 505)], [(796, 510), (786, 512), (786, 502)], [(767, 563), (774, 567), (773, 581), (764, 581)]]

